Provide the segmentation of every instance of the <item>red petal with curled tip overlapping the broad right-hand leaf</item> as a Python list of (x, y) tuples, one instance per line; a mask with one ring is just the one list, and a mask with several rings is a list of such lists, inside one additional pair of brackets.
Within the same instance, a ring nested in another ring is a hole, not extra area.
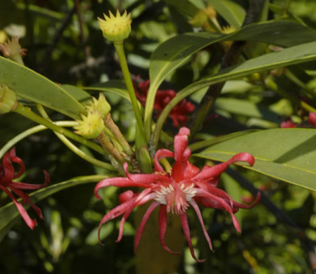
[(207, 180), (210, 178), (214, 178), (216, 176), (220, 176), (230, 164), (234, 164), (236, 162), (248, 162), (251, 166), (255, 163), (255, 158), (253, 155), (247, 152), (241, 152), (234, 155), (227, 162), (216, 164), (214, 167), (206, 167), (203, 168), (202, 171), (196, 175), (193, 180)]

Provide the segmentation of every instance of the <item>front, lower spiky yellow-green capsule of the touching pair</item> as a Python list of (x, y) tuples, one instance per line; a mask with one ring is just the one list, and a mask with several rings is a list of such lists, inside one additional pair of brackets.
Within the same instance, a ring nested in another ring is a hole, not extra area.
[(97, 138), (104, 129), (103, 120), (100, 111), (88, 112), (87, 116), (80, 115), (82, 120), (76, 120), (77, 126), (74, 126), (75, 133), (88, 139)]

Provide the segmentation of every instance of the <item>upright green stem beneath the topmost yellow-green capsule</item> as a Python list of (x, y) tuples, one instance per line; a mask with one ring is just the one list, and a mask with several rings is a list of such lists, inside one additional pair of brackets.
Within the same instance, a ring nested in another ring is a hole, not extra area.
[(116, 53), (118, 53), (118, 60), (120, 61), (120, 67), (122, 69), (127, 91), (129, 93), (129, 97), (131, 98), (131, 103), (132, 103), (132, 107), (134, 110), (137, 124), (139, 125), (139, 129), (141, 130), (141, 133), (144, 134), (144, 123), (141, 117), (141, 112), (138, 107), (138, 101), (137, 101), (136, 94), (134, 91), (132, 79), (128, 70), (124, 47), (123, 47), (123, 41), (113, 42), (113, 44), (115, 46)]

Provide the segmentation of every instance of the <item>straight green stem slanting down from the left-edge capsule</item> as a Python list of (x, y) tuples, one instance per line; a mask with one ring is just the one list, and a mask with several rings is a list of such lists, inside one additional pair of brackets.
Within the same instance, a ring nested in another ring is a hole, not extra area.
[(16, 112), (19, 115), (22, 115), (24, 117), (27, 117), (27, 119), (30, 119), (30, 120), (36, 122), (37, 124), (42, 124), (42, 125), (46, 126), (47, 128), (51, 129), (52, 131), (56, 131), (57, 133), (61, 133), (62, 135), (67, 136), (68, 138), (71, 138), (72, 140), (75, 140), (78, 143), (82, 143), (82, 145), (87, 145), (87, 147), (95, 150), (96, 152), (101, 153), (102, 155), (106, 155), (106, 152), (104, 152), (103, 148), (101, 148), (99, 145), (96, 145), (96, 143), (93, 143), (93, 142), (73, 133), (72, 131), (69, 131), (68, 129), (64, 129), (61, 126), (53, 124), (49, 120), (47, 120), (43, 117), (40, 117), (36, 113), (32, 112), (30, 107), (25, 107), (25, 106), (21, 105), (20, 103), (18, 103), (18, 105), (13, 110), (13, 112)]

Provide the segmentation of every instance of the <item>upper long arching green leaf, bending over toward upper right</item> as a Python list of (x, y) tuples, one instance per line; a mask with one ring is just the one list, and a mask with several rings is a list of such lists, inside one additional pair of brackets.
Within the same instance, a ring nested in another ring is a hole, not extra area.
[[(316, 32), (297, 22), (276, 20), (247, 25), (238, 32), (228, 35), (200, 32), (179, 34), (176, 37), (168, 39), (163, 44), (160, 44), (151, 55), (149, 67), (151, 85), (148, 89), (144, 113), (147, 133), (150, 132), (156, 91), (163, 80), (177, 69), (177, 67), (186, 63), (187, 60), (189, 60), (194, 53), (201, 50), (201, 48), (219, 41), (227, 40), (253, 40), (278, 46), (296, 46), (315, 41)], [(310, 46), (312, 46), (312, 44), (310, 44)], [(308, 49), (308, 52), (310, 49), (311, 48)], [(296, 53), (296, 56), (298, 56), (298, 53)], [(303, 56), (303, 54), (301, 56)], [(289, 56), (289, 58), (291, 59), (291, 56)], [(258, 66), (260, 66), (260, 63), (258, 63)]]

